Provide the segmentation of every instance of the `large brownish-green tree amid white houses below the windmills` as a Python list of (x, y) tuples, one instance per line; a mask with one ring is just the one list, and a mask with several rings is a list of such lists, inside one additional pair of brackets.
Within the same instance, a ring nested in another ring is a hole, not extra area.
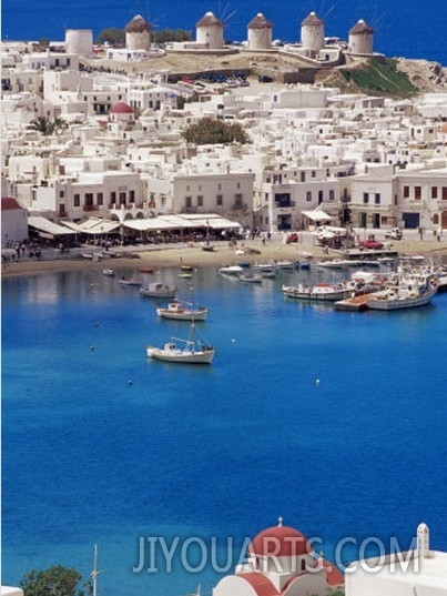
[(195, 124), (186, 127), (182, 131), (182, 137), (187, 143), (196, 145), (203, 144), (228, 144), (247, 143), (248, 135), (236, 122), (228, 123), (215, 118), (205, 117)]

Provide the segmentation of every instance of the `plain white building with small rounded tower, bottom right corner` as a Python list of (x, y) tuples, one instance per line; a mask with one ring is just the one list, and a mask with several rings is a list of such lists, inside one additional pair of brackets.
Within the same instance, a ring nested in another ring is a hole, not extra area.
[(445, 596), (447, 553), (430, 549), (428, 527), (420, 524), (414, 550), (357, 560), (345, 579), (346, 596)]

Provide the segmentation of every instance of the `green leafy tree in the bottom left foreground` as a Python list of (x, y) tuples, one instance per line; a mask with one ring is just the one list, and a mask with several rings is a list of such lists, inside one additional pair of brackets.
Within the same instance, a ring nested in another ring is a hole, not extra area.
[(20, 587), (23, 589), (24, 596), (91, 595), (91, 582), (87, 582), (83, 589), (78, 588), (81, 579), (81, 574), (75, 569), (55, 565), (45, 570), (32, 569), (23, 574), (20, 580)]

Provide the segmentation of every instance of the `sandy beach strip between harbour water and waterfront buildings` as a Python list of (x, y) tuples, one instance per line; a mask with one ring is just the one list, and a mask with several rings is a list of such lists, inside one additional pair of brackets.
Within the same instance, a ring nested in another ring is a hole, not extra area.
[[(423, 254), (436, 260), (447, 259), (447, 241), (420, 241), (405, 239), (394, 242), (393, 251), (399, 255)], [(277, 240), (266, 242), (258, 240), (241, 241), (236, 246), (228, 246), (227, 242), (214, 243), (214, 251), (204, 251), (200, 243), (163, 244), (128, 246), (125, 250), (111, 252), (108, 259), (89, 260), (81, 256), (81, 251), (64, 255), (55, 249), (43, 251), (41, 259), (24, 257), (10, 261), (2, 266), (2, 277), (20, 275), (35, 275), (40, 273), (59, 273), (63, 271), (102, 271), (105, 267), (139, 269), (141, 266), (175, 267), (181, 265), (223, 266), (236, 264), (240, 261), (248, 263), (268, 263), (271, 261), (297, 261), (306, 255), (313, 259), (339, 259), (342, 251), (329, 250), (326, 254), (323, 246), (314, 245), (307, 238), (305, 242), (286, 244)], [(243, 252), (242, 252), (243, 251)], [(365, 252), (365, 255), (369, 253)]]

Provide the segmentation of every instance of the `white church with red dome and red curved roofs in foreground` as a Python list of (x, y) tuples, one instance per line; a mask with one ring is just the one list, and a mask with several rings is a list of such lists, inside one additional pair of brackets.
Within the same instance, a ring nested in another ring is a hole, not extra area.
[(343, 576), (313, 550), (307, 538), (282, 518), (264, 529), (248, 547), (248, 560), (224, 577), (213, 596), (324, 596)]

